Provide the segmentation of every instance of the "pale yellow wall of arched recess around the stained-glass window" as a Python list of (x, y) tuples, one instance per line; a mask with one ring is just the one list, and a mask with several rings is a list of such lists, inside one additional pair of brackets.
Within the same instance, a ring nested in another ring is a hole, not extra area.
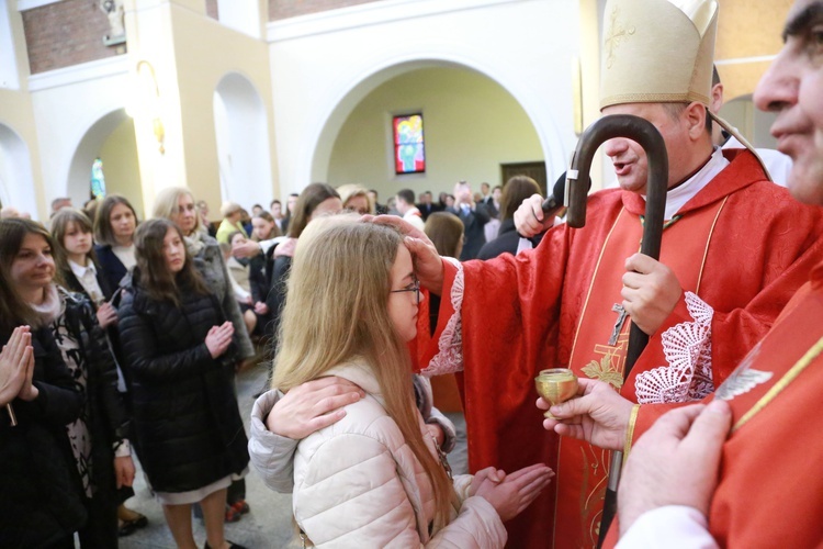
[[(503, 184), (504, 164), (545, 163), (540, 136), (523, 107), (477, 70), (416, 63), (387, 69), (370, 81), (379, 83), (367, 93), (352, 90), (329, 117), (315, 154), (314, 179), (365, 184), (382, 197), (402, 188), (437, 195), (451, 192), (461, 180), (475, 191), (481, 182)], [(352, 98), (359, 99), (353, 105)], [(417, 112), (422, 114), (426, 172), (396, 175), (392, 116)]]

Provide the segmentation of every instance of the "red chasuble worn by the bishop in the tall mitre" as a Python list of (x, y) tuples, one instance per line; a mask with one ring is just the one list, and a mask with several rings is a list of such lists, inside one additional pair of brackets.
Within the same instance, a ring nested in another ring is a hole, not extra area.
[[(748, 152), (724, 154), (732, 164), (663, 233), (662, 259), (686, 292), (621, 389), (629, 399), (669, 402), (710, 392), (823, 255), (820, 212), (766, 181)], [(507, 525), (510, 547), (596, 544), (608, 457), (559, 442), (542, 428), (533, 378), (570, 367), (620, 384), (629, 323), (618, 325), (613, 340), (612, 307), (622, 301), (624, 261), (639, 249), (644, 209), (636, 194), (601, 191), (589, 198), (584, 228), (554, 227), (535, 250), (462, 266), (444, 261), (439, 325), (422, 363), (426, 373), (464, 366), (472, 470), (544, 462), (559, 473)]]

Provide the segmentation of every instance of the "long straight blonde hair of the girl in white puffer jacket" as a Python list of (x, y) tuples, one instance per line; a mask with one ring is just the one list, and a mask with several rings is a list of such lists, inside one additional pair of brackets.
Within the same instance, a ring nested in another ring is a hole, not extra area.
[(289, 277), (272, 386), (289, 391), (362, 358), (431, 481), (439, 529), (449, 523), (453, 488), (424, 441), (408, 348), (388, 316), (390, 271), (402, 245), (399, 233), (384, 225), (346, 217), (309, 225)]

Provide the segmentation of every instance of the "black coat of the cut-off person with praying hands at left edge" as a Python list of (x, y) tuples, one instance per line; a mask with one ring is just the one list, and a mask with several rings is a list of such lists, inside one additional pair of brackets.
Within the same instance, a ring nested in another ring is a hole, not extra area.
[[(3, 334), (2, 344), (10, 334)], [(12, 402), (18, 425), (0, 412), (0, 547), (47, 547), (86, 522), (80, 480), (66, 425), (83, 393), (71, 379), (48, 328), (32, 334), (32, 402)]]

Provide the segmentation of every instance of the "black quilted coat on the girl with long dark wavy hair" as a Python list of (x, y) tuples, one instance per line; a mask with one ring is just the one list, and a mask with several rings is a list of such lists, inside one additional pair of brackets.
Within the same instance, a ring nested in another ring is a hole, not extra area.
[(117, 311), (133, 441), (160, 492), (203, 488), (249, 461), (233, 360), (228, 351), (213, 359), (205, 345), (212, 326), (225, 322), (219, 303), (211, 294), (180, 293), (178, 306), (132, 283)]

